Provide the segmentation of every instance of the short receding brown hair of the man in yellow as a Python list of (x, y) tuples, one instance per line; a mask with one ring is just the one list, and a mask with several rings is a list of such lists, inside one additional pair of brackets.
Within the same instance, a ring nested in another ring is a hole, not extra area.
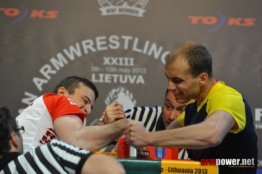
[(177, 58), (185, 59), (188, 62), (189, 71), (193, 77), (207, 73), (209, 79), (213, 78), (212, 56), (203, 45), (193, 41), (179, 44), (166, 57), (166, 64), (173, 63)]

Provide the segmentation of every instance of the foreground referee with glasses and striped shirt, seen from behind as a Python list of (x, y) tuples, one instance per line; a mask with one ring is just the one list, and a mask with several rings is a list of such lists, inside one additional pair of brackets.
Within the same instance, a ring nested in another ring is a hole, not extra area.
[(58, 139), (22, 154), (24, 131), (10, 111), (0, 106), (0, 174), (125, 173), (114, 157), (93, 154)]

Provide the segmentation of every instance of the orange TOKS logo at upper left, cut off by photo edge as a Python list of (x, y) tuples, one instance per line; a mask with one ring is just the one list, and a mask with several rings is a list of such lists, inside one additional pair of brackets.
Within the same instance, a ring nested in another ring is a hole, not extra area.
[(30, 13), (30, 18), (45, 18), (45, 19), (55, 19), (57, 18), (58, 11), (57, 10), (32, 10), (29, 11), (26, 6), (23, 4), (19, 4), (22, 8), (20, 11), (18, 8), (3, 8), (0, 7), (0, 15), (5, 15), (9, 17), (19, 17), (10, 23), (13, 25), (26, 17), (28, 13)]

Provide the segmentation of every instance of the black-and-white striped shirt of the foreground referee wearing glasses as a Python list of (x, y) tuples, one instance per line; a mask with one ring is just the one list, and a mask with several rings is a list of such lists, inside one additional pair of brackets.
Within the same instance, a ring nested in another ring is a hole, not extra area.
[(0, 159), (2, 173), (81, 173), (93, 153), (58, 139), (25, 154), (13, 152)]

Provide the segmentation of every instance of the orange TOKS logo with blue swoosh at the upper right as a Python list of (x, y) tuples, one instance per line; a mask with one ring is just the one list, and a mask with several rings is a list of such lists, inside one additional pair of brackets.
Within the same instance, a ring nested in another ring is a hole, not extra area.
[(191, 20), (191, 24), (205, 24), (214, 26), (208, 32), (211, 33), (222, 25), (227, 24), (227, 26), (254, 26), (256, 18), (244, 18), (244, 17), (229, 17), (226, 18), (224, 14), (221, 12), (217, 12), (219, 17), (215, 16), (189, 16), (188, 18)]

